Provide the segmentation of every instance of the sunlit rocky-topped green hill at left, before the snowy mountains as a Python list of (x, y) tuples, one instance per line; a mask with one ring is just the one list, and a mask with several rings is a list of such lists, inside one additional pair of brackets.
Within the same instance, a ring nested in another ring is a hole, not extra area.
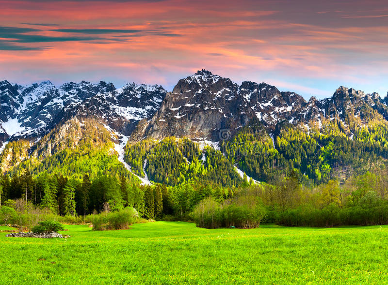
[[(85, 120), (83, 124), (81, 128), (77, 120), (67, 121), (66, 138), (58, 137), (63, 125), (54, 128), (37, 143), (34, 155), (20, 164), (11, 164), (11, 174), (20, 175), (24, 169), (31, 169), (33, 176), (46, 172), (81, 180), (84, 174), (90, 179), (98, 175), (125, 175), (130, 182), (138, 182), (118, 161), (111, 134), (103, 125), (95, 120)], [(46, 144), (54, 148), (52, 153), (47, 153)], [(4, 159), (1, 154), (0, 162)]]

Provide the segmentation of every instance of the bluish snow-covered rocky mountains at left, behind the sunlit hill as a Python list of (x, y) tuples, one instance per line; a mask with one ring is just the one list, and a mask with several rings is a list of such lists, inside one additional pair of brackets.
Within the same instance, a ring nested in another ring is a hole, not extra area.
[(57, 89), (50, 81), (25, 87), (2, 81), (0, 138), (42, 137), (74, 116), (99, 118), (129, 135), (139, 120), (155, 114), (166, 93), (161, 86), (134, 83), (116, 89), (112, 83), (81, 81)]

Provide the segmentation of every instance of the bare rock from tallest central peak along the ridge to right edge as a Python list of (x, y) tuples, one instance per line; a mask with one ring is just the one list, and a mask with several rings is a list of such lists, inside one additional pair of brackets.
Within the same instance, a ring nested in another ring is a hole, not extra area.
[(359, 117), (361, 123), (368, 123), (381, 115), (388, 118), (386, 101), (388, 97), (384, 101), (377, 93), (365, 94), (340, 87), (331, 98), (311, 97), (306, 102), (296, 93), (279, 91), (266, 83), (244, 81), (238, 86), (229, 78), (201, 70), (179, 80), (166, 95), (159, 112), (152, 120), (139, 124), (131, 139), (175, 135), (218, 140), (221, 129), (229, 129), (233, 134), (236, 128), (254, 118), (269, 133), (274, 133), (281, 122), (314, 122), (322, 127), (323, 120), (336, 119), (346, 126), (349, 118)]

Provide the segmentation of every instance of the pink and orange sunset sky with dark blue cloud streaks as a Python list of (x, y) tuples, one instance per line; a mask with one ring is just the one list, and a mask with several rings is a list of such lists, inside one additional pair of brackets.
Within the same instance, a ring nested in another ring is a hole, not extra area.
[(202, 68), (308, 99), (385, 97), (386, 0), (0, 0), (0, 80), (172, 90)]

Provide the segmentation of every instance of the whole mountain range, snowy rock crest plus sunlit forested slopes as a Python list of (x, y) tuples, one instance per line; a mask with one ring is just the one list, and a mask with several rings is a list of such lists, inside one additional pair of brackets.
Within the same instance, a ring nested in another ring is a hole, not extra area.
[(90, 167), (95, 176), (98, 167), (118, 173), (107, 167), (120, 165), (119, 172), (149, 183), (197, 179), (233, 187), (244, 172), (269, 181), (295, 170), (306, 183), (322, 183), (385, 164), (386, 101), (343, 86), (307, 101), (207, 70), (180, 79), (171, 92), (135, 83), (56, 88), (50, 81), (1, 81), (0, 167), (11, 174), (31, 168), (66, 175)]

